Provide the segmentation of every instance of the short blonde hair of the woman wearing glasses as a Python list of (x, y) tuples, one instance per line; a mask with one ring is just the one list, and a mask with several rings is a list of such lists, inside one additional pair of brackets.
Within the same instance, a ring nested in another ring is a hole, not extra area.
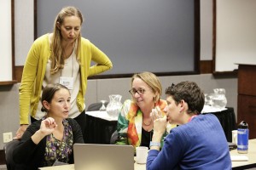
[(162, 85), (158, 77), (154, 75), (152, 72), (144, 71), (141, 73), (136, 73), (131, 77), (131, 87), (132, 82), (135, 78), (140, 78), (145, 82), (149, 88), (152, 89), (153, 93), (157, 95), (155, 96), (154, 102), (158, 102), (160, 100), (160, 96), (162, 94)]

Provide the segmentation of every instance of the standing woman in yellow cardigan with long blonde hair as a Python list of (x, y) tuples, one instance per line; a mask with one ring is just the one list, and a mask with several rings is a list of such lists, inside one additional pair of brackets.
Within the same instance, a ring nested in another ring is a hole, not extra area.
[[(49, 83), (61, 83), (71, 93), (71, 110), (68, 117), (85, 127), (84, 95), (87, 77), (108, 71), (113, 67), (108, 56), (89, 40), (81, 37), (83, 16), (78, 8), (62, 8), (56, 16), (54, 31), (33, 42), (20, 84), (20, 139), (31, 122), (41, 119), (44, 113), (39, 103), (42, 90)], [(90, 66), (94, 61), (96, 65)], [(85, 135), (84, 135), (85, 137)]]

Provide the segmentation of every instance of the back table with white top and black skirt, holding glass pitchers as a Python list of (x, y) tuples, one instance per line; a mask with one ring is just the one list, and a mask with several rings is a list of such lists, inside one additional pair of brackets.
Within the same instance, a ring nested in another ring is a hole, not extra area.
[[(218, 117), (224, 129), (226, 139), (232, 142), (232, 130), (236, 129), (236, 115), (231, 107), (223, 110), (204, 107), (202, 114), (212, 113)], [(86, 111), (85, 144), (110, 144), (113, 132), (116, 130), (117, 117), (108, 116), (107, 111)]]

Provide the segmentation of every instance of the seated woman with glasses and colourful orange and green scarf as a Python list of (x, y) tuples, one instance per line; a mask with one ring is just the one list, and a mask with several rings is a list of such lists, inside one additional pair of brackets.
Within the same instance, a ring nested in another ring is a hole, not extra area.
[(118, 118), (118, 139), (116, 144), (131, 144), (134, 147), (147, 146), (152, 139), (153, 120), (151, 111), (157, 108), (166, 114), (166, 100), (160, 99), (160, 80), (151, 72), (134, 74), (131, 77), (132, 100), (124, 102)]

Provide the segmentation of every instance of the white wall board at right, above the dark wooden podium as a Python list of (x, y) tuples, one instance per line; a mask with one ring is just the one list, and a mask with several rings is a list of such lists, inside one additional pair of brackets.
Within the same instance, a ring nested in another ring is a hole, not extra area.
[[(215, 71), (256, 65), (256, 1), (217, 0)], [(228, 62), (224, 62), (228, 61)]]

